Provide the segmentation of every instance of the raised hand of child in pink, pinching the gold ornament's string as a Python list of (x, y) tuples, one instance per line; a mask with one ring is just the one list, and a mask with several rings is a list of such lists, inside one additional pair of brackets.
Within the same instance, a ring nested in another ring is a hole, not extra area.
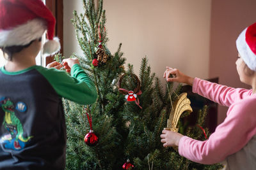
[[(173, 75), (171, 78), (170, 76)], [(179, 69), (173, 69), (172, 67), (167, 67), (164, 71), (164, 78), (166, 81), (177, 81), (179, 83), (186, 83), (188, 85), (193, 85), (194, 78), (187, 76), (179, 71)]]

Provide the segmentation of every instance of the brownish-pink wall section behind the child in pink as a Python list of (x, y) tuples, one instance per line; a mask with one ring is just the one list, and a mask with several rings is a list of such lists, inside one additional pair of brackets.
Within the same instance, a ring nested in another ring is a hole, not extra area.
[[(212, 1), (209, 76), (220, 77), (223, 85), (250, 88), (240, 82), (236, 71), (236, 38), (245, 27), (256, 22), (255, 9), (255, 0)], [(219, 107), (219, 124), (226, 112), (226, 107)]]

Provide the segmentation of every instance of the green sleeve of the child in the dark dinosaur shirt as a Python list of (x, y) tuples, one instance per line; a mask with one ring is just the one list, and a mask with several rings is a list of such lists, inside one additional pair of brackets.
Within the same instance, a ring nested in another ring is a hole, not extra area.
[(71, 76), (55, 68), (37, 67), (37, 70), (51, 83), (57, 94), (79, 104), (92, 104), (97, 100), (97, 90), (84, 70), (75, 64)]

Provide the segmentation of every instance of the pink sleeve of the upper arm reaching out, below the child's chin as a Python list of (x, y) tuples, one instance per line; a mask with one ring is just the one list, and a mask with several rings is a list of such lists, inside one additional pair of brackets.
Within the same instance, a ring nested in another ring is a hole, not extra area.
[(193, 82), (193, 92), (228, 107), (234, 101), (252, 94), (252, 90), (235, 89), (225, 85), (211, 83), (210, 81), (200, 80), (199, 78), (195, 78)]

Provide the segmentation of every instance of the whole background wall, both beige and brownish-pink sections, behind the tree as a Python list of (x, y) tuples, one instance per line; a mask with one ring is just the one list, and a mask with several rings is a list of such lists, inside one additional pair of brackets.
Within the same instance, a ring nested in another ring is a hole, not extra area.
[[(161, 78), (165, 66), (190, 76), (213, 78), (231, 87), (244, 87), (236, 72), (236, 38), (255, 22), (255, 0), (105, 0), (108, 47), (119, 43), (127, 63), (138, 74), (147, 55), (152, 71)], [(64, 0), (64, 54), (83, 55), (70, 22), (72, 11), (83, 11), (80, 0)], [(162, 79), (164, 82), (164, 80)], [(227, 108), (220, 106), (218, 124)]]

